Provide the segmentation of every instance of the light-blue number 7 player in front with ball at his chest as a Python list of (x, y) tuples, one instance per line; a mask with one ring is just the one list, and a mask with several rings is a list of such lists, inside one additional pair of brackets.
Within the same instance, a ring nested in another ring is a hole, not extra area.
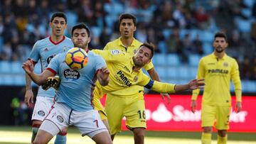
[(70, 125), (78, 127), (82, 136), (88, 135), (95, 143), (112, 143), (107, 128), (92, 104), (92, 91), (96, 80), (106, 86), (110, 72), (102, 57), (87, 50), (89, 36), (85, 25), (74, 26), (72, 29), (72, 40), (78, 44), (76, 46), (87, 51), (88, 55), (87, 65), (80, 70), (71, 70), (68, 67), (65, 63), (65, 52), (53, 57), (41, 74), (33, 72), (30, 60), (23, 63), (23, 69), (38, 85), (44, 84), (48, 77), (55, 74), (60, 77), (55, 104), (39, 128), (33, 143), (48, 143), (54, 135)]

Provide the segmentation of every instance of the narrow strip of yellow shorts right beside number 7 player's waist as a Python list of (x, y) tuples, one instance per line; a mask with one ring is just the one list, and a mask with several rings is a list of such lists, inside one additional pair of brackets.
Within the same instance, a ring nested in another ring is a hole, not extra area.
[(105, 109), (100, 102), (100, 99), (102, 98), (103, 93), (102, 93), (102, 89), (99, 84), (100, 84), (99, 82), (96, 82), (96, 86), (93, 91), (94, 96), (93, 96), (92, 103), (95, 106), (95, 110), (97, 110), (100, 113), (100, 118), (102, 120), (105, 120), (105, 119), (107, 119), (107, 113), (105, 112)]

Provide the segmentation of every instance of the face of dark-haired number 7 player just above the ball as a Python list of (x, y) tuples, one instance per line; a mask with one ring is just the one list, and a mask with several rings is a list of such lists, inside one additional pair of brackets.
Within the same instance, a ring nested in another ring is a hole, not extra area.
[(77, 28), (73, 31), (72, 41), (75, 47), (85, 49), (88, 47), (88, 44), (90, 43), (90, 37), (88, 37), (85, 28)]

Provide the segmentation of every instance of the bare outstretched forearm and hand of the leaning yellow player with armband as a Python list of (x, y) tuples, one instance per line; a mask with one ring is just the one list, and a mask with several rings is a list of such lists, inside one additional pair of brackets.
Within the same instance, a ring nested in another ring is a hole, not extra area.
[(176, 84), (175, 92), (181, 92), (186, 90), (193, 90), (193, 89), (203, 89), (205, 83), (204, 79), (193, 79), (188, 84)]

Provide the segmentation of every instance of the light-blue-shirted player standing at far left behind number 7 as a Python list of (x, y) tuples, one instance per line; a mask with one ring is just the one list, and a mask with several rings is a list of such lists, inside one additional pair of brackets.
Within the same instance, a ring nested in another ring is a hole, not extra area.
[[(65, 52), (70, 48), (73, 48), (73, 43), (70, 38), (63, 35), (65, 28), (67, 28), (67, 18), (64, 13), (53, 13), (50, 18), (51, 35), (43, 40), (38, 40), (28, 58), (28, 61), (32, 61), (33, 65), (36, 65), (38, 60), (41, 61), (41, 70), (45, 70), (49, 65), (50, 60), (60, 52)], [(43, 119), (46, 118), (47, 113), (50, 111), (53, 105), (53, 97), (55, 96), (55, 90), (53, 88), (47, 91), (39, 87), (38, 94), (36, 96), (36, 104), (33, 110), (32, 122), (32, 138), (34, 140), (38, 128), (41, 126)], [(33, 92), (31, 89), (31, 79), (26, 74), (26, 94), (25, 102), (28, 106), (33, 103)], [(66, 132), (63, 131), (56, 136), (55, 144), (61, 144), (66, 142)]]

